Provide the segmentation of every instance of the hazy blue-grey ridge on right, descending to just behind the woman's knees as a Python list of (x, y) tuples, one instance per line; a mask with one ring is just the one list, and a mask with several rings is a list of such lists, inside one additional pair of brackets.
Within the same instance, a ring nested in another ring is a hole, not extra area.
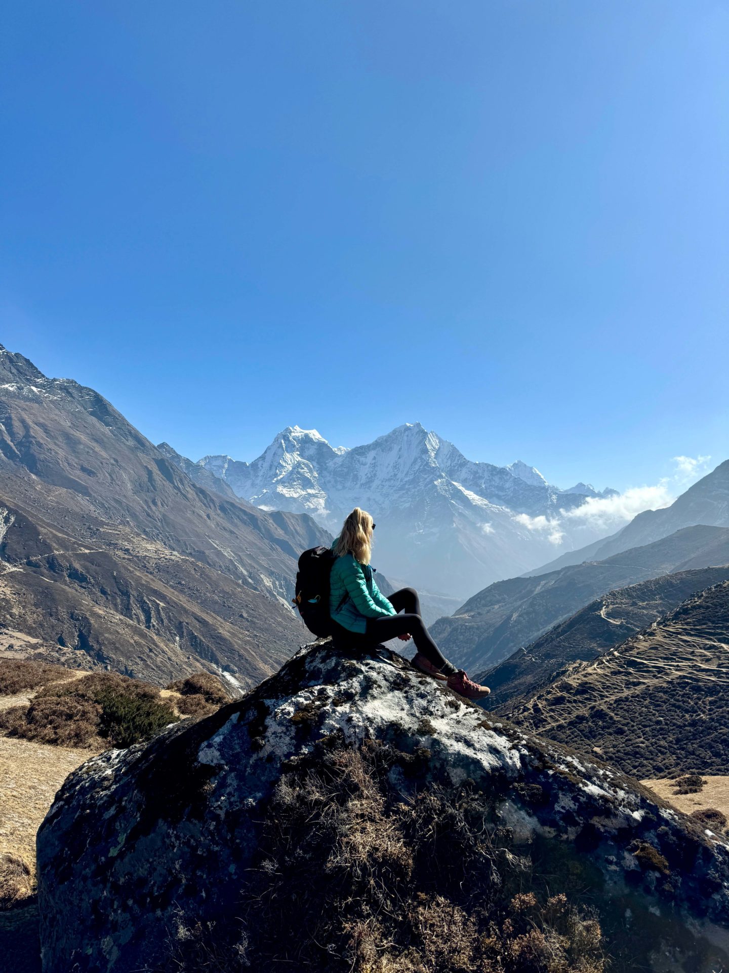
[(490, 585), (452, 616), (439, 619), (432, 631), (454, 663), (484, 671), (600, 595), (673, 571), (726, 563), (729, 529), (686, 527), (605, 560)]

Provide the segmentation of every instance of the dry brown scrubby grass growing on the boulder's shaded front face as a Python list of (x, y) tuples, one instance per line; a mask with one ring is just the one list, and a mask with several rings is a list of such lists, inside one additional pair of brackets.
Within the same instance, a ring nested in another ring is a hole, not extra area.
[(519, 893), (524, 873), (489, 823), (490, 799), (431, 785), (403, 800), (390, 772), (405, 758), (365, 743), (297, 761), (268, 806), (235, 918), (181, 916), (160, 969), (602, 973), (597, 919), (534, 877), (535, 891)]

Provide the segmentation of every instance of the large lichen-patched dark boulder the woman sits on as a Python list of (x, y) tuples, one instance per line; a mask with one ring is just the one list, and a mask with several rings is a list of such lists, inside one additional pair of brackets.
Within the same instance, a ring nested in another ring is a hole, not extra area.
[(45, 973), (710, 973), (729, 848), (382, 647), (68, 777), (38, 835)]

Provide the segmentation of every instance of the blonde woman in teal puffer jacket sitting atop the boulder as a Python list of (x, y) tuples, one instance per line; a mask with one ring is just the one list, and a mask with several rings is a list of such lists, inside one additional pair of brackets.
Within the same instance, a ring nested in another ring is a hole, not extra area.
[(418, 593), (403, 588), (386, 598), (380, 592), (369, 564), (373, 530), (369, 514), (355, 507), (331, 545), (337, 555), (330, 581), (334, 639), (346, 639), (350, 645), (376, 645), (396, 635), (403, 642), (412, 637), (418, 650), (414, 667), (447, 682), (469, 700), (482, 700), (489, 695), (489, 688), (479, 686), (444, 658), (423, 623)]

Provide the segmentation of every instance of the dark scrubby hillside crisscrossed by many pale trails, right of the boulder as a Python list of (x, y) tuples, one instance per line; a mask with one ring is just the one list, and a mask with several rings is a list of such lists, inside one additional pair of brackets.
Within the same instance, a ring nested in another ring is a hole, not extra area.
[(500, 712), (642, 777), (729, 762), (729, 582)]

